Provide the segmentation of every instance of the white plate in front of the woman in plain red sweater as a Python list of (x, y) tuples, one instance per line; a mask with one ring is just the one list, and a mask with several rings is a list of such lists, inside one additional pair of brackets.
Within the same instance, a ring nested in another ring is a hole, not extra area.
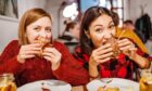
[(40, 80), (30, 83), (26, 83), (20, 88), (17, 91), (42, 91), (42, 83), (43, 87), (50, 89), (50, 91), (71, 91), (72, 87), (69, 83), (66, 83), (61, 80)]

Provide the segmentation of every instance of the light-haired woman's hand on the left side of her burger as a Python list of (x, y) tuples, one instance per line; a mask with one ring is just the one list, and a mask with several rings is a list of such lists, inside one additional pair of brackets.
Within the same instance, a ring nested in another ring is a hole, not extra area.
[(41, 46), (39, 43), (22, 46), (17, 55), (17, 61), (24, 63), (26, 58), (35, 57), (40, 53)]

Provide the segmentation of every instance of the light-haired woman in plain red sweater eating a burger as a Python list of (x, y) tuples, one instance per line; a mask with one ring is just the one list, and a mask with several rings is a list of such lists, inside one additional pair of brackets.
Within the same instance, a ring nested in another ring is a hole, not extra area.
[(20, 22), (18, 40), (12, 40), (0, 56), (0, 74), (12, 73), (18, 87), (45, 79), (86, 84), (88, 72), (52, 39), (50, 14), (42, 9), (27, 11)]

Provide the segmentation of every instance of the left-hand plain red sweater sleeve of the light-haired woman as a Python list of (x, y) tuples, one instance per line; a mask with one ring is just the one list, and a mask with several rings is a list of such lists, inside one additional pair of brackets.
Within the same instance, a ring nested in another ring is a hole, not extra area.
[(20, 70), (21, 63), (17, 62), (16, 55), (18, 51), (17, 41), (10, 42), (0, 56), (0, 74), (4, 73), (17, 73)]

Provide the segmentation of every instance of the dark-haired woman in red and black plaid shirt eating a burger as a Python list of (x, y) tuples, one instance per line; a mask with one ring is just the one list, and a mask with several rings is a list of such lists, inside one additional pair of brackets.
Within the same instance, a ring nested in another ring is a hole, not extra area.
[[(128, 38), (115, 37), (113, 13), (105, 8), (89, 8), (80, 25), (80, 47), (75, 57), (90, 78), (134, 79), (135, 67), (148, 68), (149, 55)], [(123, 34), (122, 34), (123, 35)]]

